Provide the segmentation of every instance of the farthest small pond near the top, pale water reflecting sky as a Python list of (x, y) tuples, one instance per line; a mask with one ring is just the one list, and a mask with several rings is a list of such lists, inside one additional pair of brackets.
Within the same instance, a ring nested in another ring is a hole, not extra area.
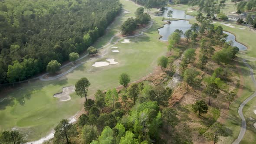
[(192, 19), (192, 18), (194, 18), (194, 16), (185, 14), (184, 10), (176, 10), (172, 7), (165, 7), (165, 8), (166, 8), (166, 10), (163, 13), (163, 17), (168, 17), (167, 16), (168, 11), (172, 10), (173, 11), (172, 18), (175, 18), (175, 19)]

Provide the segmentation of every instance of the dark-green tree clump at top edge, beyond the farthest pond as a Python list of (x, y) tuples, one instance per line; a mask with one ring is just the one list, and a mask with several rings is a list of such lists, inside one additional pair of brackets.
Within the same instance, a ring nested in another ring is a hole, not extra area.
[(143, 5), (145, 7), (161, 7), (165, 5), (169, 0), (131, 0), (134, 1), (135, 3), (138, 3), (140, 5)]

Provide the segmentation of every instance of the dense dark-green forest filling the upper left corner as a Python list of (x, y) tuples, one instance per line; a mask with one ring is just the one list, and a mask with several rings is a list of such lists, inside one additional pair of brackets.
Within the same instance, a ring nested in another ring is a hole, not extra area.
[(84, 52), (120, 11), (119, 0), (0, 1), (0, 83), (28, 79), (52, 60)]

